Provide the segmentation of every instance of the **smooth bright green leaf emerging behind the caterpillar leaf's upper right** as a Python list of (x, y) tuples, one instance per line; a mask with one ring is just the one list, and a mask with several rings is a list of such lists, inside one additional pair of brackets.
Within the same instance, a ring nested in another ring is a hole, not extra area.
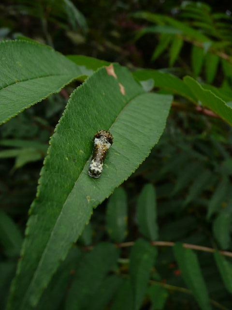
[(152, 78), (155, 82), (155, 87), (167, 90), (170, 93), (176, 93), (190, 101), (196, 102), (195, 95), (186, 87), (185, 83), (172, 74), (158, 70), (141, 69), (133, 72), (133, 76), (142, 81)]

